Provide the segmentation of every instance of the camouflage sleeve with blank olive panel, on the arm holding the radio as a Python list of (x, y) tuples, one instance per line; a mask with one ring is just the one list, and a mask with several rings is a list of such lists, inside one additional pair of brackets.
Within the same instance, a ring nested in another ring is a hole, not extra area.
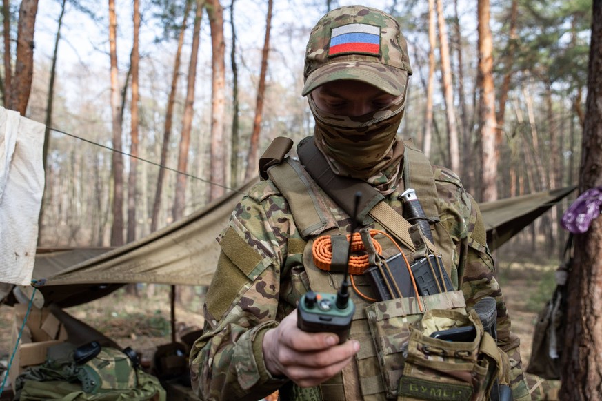
[(205, 298), (203, 335), (190, 352), (202, 400), (257, 400), (285, 383), (265, 369), (262, 341), (276, 327), (288, 206), (271, 183), (253, 187), (219, 236), (221, 256)]

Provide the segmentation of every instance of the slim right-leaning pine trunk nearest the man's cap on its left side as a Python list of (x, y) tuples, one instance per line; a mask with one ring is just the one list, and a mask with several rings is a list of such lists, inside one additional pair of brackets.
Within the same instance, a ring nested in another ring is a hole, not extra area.
[(255, 102), (255, 119), (253, 132), (247, 158), (245, 182), (257, 175), (257, 148), (259, 147), (259, 133), (261, 132), (261, 119), (263, 117), (263, 98), (265, 96), (265, 73), (268, 71), (268, 55), (270, 53), (270, 28), (272, 28), (272, 6), (274, 1), (268, 0), (268, 17), (265, 19), (265, 39), (261, 52), (261, 72), (259, 73), (259, 86), (257, 87), (257, 101)]

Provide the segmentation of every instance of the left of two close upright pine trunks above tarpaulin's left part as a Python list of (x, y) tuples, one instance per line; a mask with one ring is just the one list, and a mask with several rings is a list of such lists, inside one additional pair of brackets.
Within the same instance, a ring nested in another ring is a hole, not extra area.
[(123, 245), (123, 156), (121, 155), (121, 102), (117, 70), (117, 14), (115, 1), (109, 0), (109, 44), (111, 59), (111, 112), (113, 149), (113, 224), (111, 245)]

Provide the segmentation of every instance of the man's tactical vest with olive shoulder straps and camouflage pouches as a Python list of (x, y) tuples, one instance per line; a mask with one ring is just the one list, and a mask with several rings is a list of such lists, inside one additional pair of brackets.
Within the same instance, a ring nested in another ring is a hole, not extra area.
[[(304, 146), (313, 145), (312, 142), (312, 137), (301, 141), (299, 154)], [(313, 157), (323, 156), (316, 152), (304, 152), (310, 154), (310, 158), (305, 156), (302, 162), (293, 157), (284, 158), (291, 146), (292, 141), (288, 138), (274, 140), (260, 159), (261, 176), (270, 178), (286, 198), (297, 229), (308, 241), (303, 249), (303, 266), (310, 289), (332, 293), (337, 291), (343, 274), (316, 267), (312, 258), (312, 243), (319, 236), (348, 233), (348, 225), (341, 224), (344, 219), (335, 216), (337, 212), (334, 211), (343, 209), (348, 215), (351, 214), (351, 194), (357, 190), (354, 185), (359, 184), (356, 180), (331, 177), (326, 180), (327, 184), (320, 178), (322, 186), (318, 185), (304, 165), (315, 167), (317, 161)], [(404, 152), (403, 185), (416, 190), (431, 223), (434, 243), (441, 252), (443, 265), (456, 291), (382, 302), (368, 302), (352, 291), (351, 299), (356, 309), (350, 338), (360, 343), (354, 363), (348, 364), (341, 373), (319, 387), (301, 389), (291, 383), (281, 389), (281, 399), (485, 400), (494, 378), (500, 376), (499, 368), (508, 364), (505, 353), (497, 349), (493, 338), (483, 333), (476, 313), (466, 310), (463, 293), (458, 291), (455, 247), (445, 227), (439, 222), (432, 166), (412, 143), (405, 143)], [(328, 187), (337, 202), (325, 193), (324, 187)], [(400, 209), (401, 202), (395, 200), (395, 195), (390, 196), (388, 203)], [(370, 210), (381, 200), (383, 196), (377, 194), (363, 198), (357, 214), (362, 226), (382, 228), (370, 214)], [(397, 247), (390, 241), (384, 238), (379, 238), (379, 241), (383, 245), (383, 256), (397, 253)], [(401, 247), (410, 256), (416, 251), (411, 243), (401, 243)], [(363, 294), (371, 294), (372, 289), (365, 276), (354, 276), (354, 284)], [(474, 325), (476, 338), (471, 343), (443, 342), (423, 335), (425, 329), (434, 331), (433, 327), (437, 329), (450, 324)], [(508, 380), (507, 377), (501, 379), (503, 382)]]

